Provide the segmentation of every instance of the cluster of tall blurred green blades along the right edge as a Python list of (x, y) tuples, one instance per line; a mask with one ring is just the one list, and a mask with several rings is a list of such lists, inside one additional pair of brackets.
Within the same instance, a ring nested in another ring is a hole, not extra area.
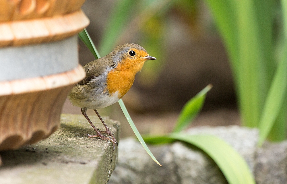
[(229, 54), (243, 125), (259, 127), (259, 145), (268, 135), (273, 141), (286, 139), (287, 55), (276, 56), (286, 52), (286, 0), (279, 5), (282, 34), (274, 26), (276, 1), (206, 2)]

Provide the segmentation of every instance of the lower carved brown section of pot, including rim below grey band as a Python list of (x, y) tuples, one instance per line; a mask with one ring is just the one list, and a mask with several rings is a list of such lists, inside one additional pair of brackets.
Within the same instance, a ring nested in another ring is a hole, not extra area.
[(51, 135), (59, 127), (68, 92), (84, 76), (79, 65), (60, 74), (0, 82), (0, 150), (17, 149)]

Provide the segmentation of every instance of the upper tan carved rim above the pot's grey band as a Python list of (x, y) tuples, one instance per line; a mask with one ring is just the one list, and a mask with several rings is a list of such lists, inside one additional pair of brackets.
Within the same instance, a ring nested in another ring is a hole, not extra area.
[(0, 47), (62, 40), (79, 33), (89, 23), (82, 10), (61, 16), (1, 22)]

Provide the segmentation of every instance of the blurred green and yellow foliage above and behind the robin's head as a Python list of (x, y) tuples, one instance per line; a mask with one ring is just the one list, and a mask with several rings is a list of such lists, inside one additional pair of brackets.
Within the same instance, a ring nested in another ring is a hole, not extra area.
[[(113, 7), (100, 42), (101, 55), (108, 54), (119, 44), (131, 42), (136, 35), (139, 43), (157, 60), (146, 62), (138, 74), (144, 86), (153, 86), (166, 61), (164, 37), (168, 26), (168, 13), (178, 11), (189, 25), (196, 27), (196, 1), (190, 0), (119, 0)], [(197, 30), (197, 34), (200, 31)]]

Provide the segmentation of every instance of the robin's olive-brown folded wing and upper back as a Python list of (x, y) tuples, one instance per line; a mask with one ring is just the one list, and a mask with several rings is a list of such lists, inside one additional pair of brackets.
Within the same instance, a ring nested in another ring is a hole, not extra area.
[(86, 71), (86, 77), (81, 80), (78, 84), (87, 84), (92, 78), (96, 78), (101, 73), (103, 73), (108, 67), (113, 65), (110, 54), (105, 57), (101, 57), (83, 66)]

